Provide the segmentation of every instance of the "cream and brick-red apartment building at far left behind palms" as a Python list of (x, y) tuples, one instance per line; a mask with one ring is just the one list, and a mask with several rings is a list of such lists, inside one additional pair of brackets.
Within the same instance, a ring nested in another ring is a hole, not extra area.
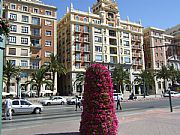
[[(4, 0), (4, 16), (10, 20), (5, 59), (21, 68), (21, 91), (30, 91), (25, 81), (30, 80), (34, 70), (48, 64), (49, 55), (57, 51), (56, 10), (40, 0)], [(46, 89), (49, 86), (42, 87)], [(11, 92), (17, 92), (16, 78), (11, 80)]]

